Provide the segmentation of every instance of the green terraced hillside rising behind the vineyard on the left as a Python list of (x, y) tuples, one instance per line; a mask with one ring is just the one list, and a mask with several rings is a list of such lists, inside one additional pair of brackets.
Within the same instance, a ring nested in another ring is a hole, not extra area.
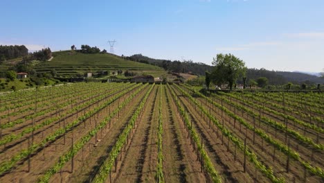
[(60, 76), (77, 76), (87, 72), (96, 73), (97, 71), (116, 72), (117, 70), (126, 70), (138, 74), (146, 73), (154, 77), (165, 74), (160, 67), (151, 64), (143, 64), (124, 60), (117, 55), (111, 54), (84, 54), (76, 51), (57, 51), (53, 52), (53, 60), (40, 62), (35, 67), (37, 73), (48, 73), (55, 69)]

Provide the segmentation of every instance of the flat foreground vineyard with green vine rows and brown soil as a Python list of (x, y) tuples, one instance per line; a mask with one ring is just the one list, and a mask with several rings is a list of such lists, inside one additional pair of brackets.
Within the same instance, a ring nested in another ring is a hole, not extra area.
[(0, 182), (323, 182), (323, 93), (78, 83), (0, 96)]

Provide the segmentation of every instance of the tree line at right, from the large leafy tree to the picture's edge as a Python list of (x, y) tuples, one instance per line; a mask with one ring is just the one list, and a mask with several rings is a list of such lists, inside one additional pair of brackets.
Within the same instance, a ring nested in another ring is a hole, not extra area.
[[(215, 85), (228, 85), (232, 89), (234, 85), (241, 84), (246, 87), (268, 87), (273, 85), (285, 85), (285, 88), (290, 89), (294, 85), (306, 88), (307, 85), (318, 85), (324, 83), (324, 79), (317, 76), (310, 76), (305, 73), (268, 71), (266, 69), (247, 69), (243, 60), (236, 58), (231, 54), (217, 54), (213, 58), (213, 69), (211, 73), (206, 71), (205, 83), (209, 87), (210, 82)], [(313, 82), (308, 79), (312, 79)]]

